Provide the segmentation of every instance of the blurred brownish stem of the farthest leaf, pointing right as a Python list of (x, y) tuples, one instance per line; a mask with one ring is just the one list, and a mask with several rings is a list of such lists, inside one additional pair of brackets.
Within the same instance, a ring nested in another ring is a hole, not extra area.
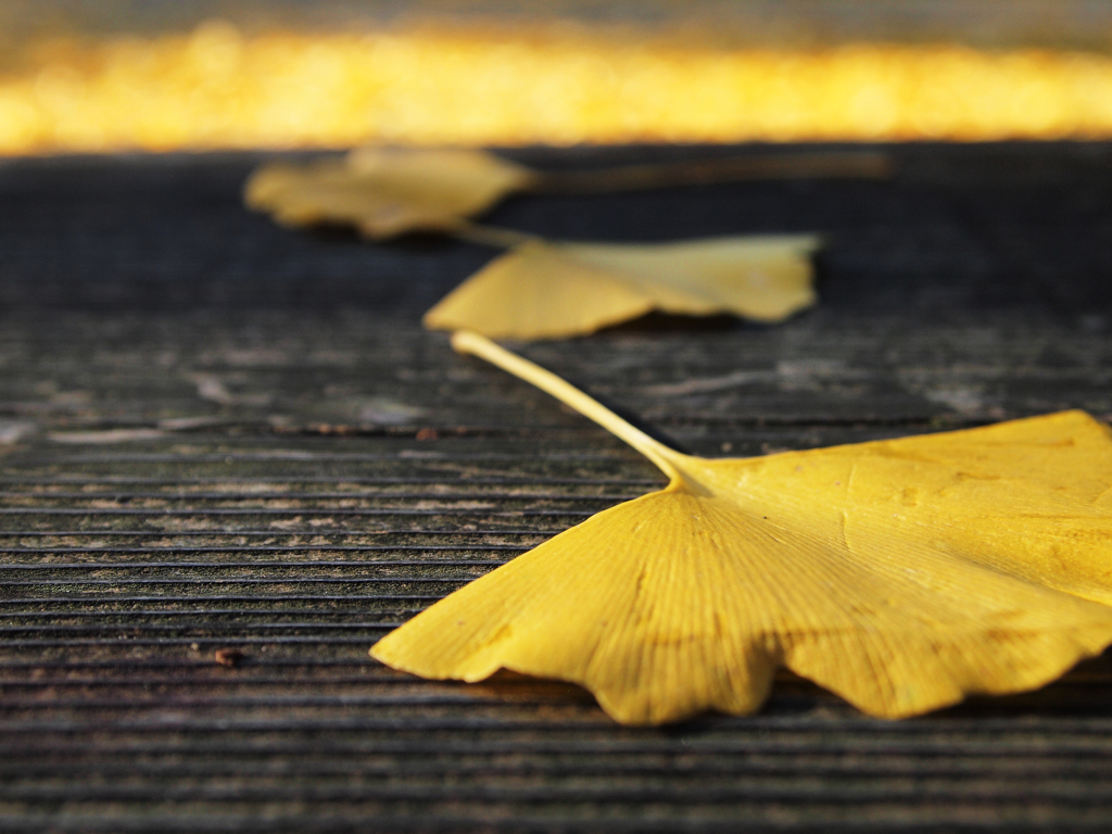
[(696, 159), (590, 171), (537, 171), (525, 190), (533, 193), (605, 193), (668, 186), (808, 177), (884, 179), (892, 160), (874, 151), (824, 151), (776, 156)]

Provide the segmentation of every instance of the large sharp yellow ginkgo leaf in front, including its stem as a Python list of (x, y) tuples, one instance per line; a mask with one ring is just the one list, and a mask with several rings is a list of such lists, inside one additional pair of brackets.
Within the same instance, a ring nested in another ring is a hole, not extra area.
[(1112, 437), (1081, 411), (711, 460), (483, 337), (669, 477), (374, 646), (425, 677), (583, 685), (614, 718), (749, 713), (783, 665), (884, 717), (1037, 687), (1112, 643)]

